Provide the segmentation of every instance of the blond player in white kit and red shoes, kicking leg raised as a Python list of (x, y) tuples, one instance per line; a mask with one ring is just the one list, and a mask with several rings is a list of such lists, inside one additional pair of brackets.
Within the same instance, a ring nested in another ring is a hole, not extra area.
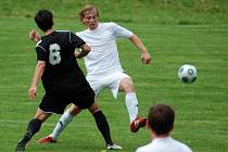
[[(110, 88), (114, 98), (117, 98), (118, 91), (124, 91), (126, 93), (125, 102), (129, 114), (130, 130), (137, 132), (139, 128), (145, 125), (147, 118), (138, 116), (138, 99), (136, 97), (134, 83), (122, 68), (116, 39), (129, 39), (134, 46), (140, 50), (143, 64), (150, 63), (150, 53), (132, 31), (113, 22), (99, 23), (99, 12), (94, 7), (86, 5), (80, 11), (79, 17), (81, 23), (87, 26), (87, 29), (79, 31), (76, 35), (84, 39), (91, 48), (87, 58), (84, 58), (87, 68), (87, 80), (94, 90), (97, 97), (106, 87)], [(55, 141), (60, 136), (60, 132), (72, 121), (74, 111), (77, 111), (77, 109), (72, 105), (60, 118), (60, 122), (67, 123), (58, 123), (53, 132), (50, 136), (40, 139), (38, 142), (47, 143)], [(112, 149), (118, 148), (113, 147)]]

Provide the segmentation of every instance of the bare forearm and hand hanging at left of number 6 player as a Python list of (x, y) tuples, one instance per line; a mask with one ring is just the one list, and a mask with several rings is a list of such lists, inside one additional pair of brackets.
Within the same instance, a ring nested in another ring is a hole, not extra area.
[(30, 88), (28, 89), (28, 97), (30, 100), (34, 100), (36, 98), (36, 92), (37, 92), (37, 86), (39, 84), (39, 80), (43, 74), (46, 67), (46, 62), (45, 61), (38, 61), (35, 72), (34, 72), (34, 78), (30, 84)]

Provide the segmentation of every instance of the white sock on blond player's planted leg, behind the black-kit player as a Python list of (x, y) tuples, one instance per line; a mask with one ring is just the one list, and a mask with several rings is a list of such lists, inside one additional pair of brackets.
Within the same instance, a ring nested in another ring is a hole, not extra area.
[(61, 116), (60, 121), (58, 122), (51, 137), (53, 140), (56, 140), (60, 134), (64, 130), (64, 128), (72, 122), (74, 118), (73, 115), (69, 114), (68, 111), (65, 111), (64, 114)]

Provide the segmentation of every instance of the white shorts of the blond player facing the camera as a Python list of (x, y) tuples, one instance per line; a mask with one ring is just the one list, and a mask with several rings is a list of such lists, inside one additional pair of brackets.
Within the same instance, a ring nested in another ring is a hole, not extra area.
[(109, 88), (116, 99), (118, 94), (119, 83), (124, 78), (130, 78), (127, 74), (122, 71), (116, 71), (105, 75), (87, 75), (87, 80), (91, 88), (93, 89), (96, 96), (98, 96), (104, 88)]

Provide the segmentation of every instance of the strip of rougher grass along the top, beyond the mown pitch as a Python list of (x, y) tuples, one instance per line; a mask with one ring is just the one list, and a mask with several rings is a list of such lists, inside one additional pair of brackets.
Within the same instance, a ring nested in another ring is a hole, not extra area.
[(228, 22), (226, 0), (7, 0), (1, 16), (33, 17), (38, 9), (50, 9), (55, 17), (77, 18), (85, 4), (94, 4), (103, 21), (153, 24), (221, 24)]

